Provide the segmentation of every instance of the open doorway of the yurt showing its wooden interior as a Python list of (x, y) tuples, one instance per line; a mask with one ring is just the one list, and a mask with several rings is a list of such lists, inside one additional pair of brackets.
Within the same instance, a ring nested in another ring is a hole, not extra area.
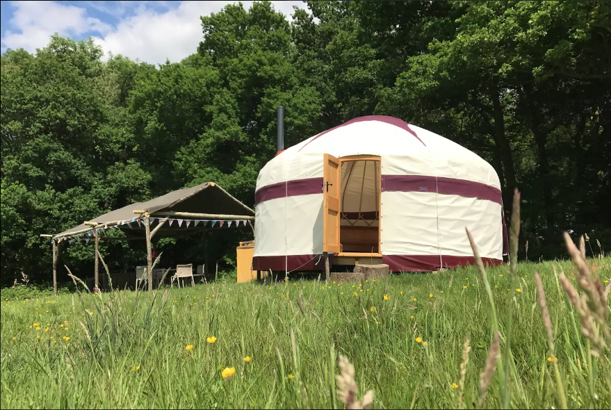
[(339, 158), (339, 256), (380, 254), (380, 157)]

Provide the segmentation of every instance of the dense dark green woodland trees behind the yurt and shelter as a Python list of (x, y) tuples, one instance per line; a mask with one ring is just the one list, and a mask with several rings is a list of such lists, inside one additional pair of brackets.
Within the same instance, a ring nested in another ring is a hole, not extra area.
[[(289, 21), (261, 1), (201, 21), (194, 54), (158, 67), (58, 35), (2, 54), (3, 283), (49, 279), (40, 233), (131, 202), (215, 181), (253, 206), (281, 104), (286, 146), (375, 114), (471, 149), (498, 172), (507, 215), (523, 192), (530, 258), (562, 254), (562, 230), (610, 246), (611, 3), (307, 1)], [(233, 263), (236, 235), (215, 259)], [(102, 252), (127, 265), (143, 249)], [(93, 251), (66, 257), (78, 268)]]

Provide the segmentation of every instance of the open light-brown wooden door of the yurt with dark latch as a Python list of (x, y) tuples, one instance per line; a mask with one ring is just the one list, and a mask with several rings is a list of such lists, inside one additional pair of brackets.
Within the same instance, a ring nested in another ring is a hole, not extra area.
[(339, 252), (341, 217), (339, 159), (325, 154), (323, 166), (323, 252)]

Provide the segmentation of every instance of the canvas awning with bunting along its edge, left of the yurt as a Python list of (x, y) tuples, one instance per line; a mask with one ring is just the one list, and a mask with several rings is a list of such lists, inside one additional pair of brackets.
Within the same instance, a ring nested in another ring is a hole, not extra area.
[[(149, 213), (152, 225), (168, 218), (159, 236), (173, 236), (186, 229), (203, 231), (235, 226), (254, 219), (254, 211), (213, 182), (175, 190), (147, 202), (136, 202), (53, 236), (67, 239), (83, 236), (95, 229), (120, 229), (128, 236), (145, 234), (140, 220)], [(172, 223), (170, 223), (172, 222)]]

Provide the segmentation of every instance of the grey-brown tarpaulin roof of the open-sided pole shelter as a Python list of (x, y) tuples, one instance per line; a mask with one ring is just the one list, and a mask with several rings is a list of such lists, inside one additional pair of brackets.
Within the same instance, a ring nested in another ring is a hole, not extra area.
[[(134, 213), (134, 211), (146, 211), (153, 217), (156, 212), (160, 211), (209, 213), (218, 215), (219, 220), (222, 220), (222, 215), (244, 215), (245, 217), (252, 217), (252, 215), (254, 215), (254, 211), (251, 208), (239, 202), (238, 199), (231, 196), (216, 183), (206, 182), (197, 186), (192, 186), (191, 188), (169, 192), (147, 202), (136, 202), (135, 204), (124, 206), (115, 211), (99, 215), (97, 218), (92, 218), (88, 222), (95, 222), (102, 226), (104, 226), (104, 224), (108, 226), (116, 225), (119, 229), (124, 231), (137, 231), (139, 224), (136, 225), (136, 218), (141, 218), (142, 215)], [(181, 218), (181, 220), (194, 219), (185, 216), (177, 216), (175, 218)], [(129, 227), (127, 227), (127, 223), (129, 223)], [(173, 228), (179, 229), (180, 227), (174, 225)], [(93, 229), (96, 229), (96, 227), (83, 223), (67, 231), (58, 233), (54, 237), (62, 238), (73, 236), (83, 231), (92, 231)], [(167, 229), (172, 229), (172, 227), (166, 226), (163, 227), (162, 230), (165, 231)], [(143, 227), (140, 227), (140, 230), (144, 231)]]

